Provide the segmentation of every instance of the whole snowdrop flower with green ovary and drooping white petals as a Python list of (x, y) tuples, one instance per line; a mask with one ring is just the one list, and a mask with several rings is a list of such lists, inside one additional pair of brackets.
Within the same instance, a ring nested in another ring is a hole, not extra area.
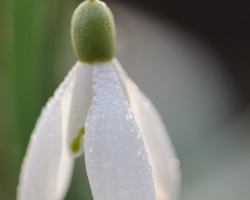
[(154, 106), (114, 58), (112, 13), (87, 0), (71, 32), (79, 61), (37, 121), (17, 199), (63, 199), (84, 154), (94, 200), (174, 200), (179, 161)]

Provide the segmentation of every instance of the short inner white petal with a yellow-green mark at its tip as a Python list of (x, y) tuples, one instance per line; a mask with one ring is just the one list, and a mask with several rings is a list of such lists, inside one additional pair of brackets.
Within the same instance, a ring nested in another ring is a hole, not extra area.
[(72, 102), (69, 115), (68, 149), (70, 154), (78, 157), (83, 153), (82, 134), (85, 121), (92, 101), (92, 72), (93, 66), (78, 62)]

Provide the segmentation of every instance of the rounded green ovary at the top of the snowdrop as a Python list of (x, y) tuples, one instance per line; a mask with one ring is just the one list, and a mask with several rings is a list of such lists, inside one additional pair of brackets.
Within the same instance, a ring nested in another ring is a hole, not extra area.
[(104, 2), (87, 0), (78, 6), (72, 17), (71, 38), (81, 62), (112, 60), (116, 49), (115, 23)]

